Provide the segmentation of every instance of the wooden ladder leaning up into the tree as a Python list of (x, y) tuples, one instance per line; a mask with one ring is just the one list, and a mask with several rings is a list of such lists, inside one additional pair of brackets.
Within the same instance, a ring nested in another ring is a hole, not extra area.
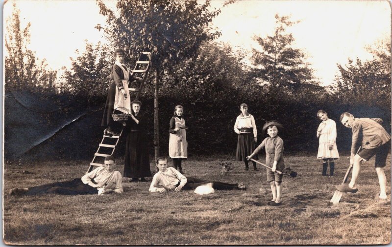
[[(131, 101), (139, 100), (141, 92), (143, 90), (144, 83), (147, 79), (147, 73), (151, 67), (151, 52), (141, 52), (138, 61), (132, 70), (132, 75), (142, 78), (142, 81), (138, 82), (133, 80), (128, 82), (129, 96)], [(102, 166), (104, 163), (104, 158), (108, 155), (113, 155), (117, 144), (119, 144), (120, 137), (123, 134), (123, 129), (120, 135), (117, 136), (107, 136), (103, 135), (101, 142), (98, 145), (97, 152), (94, 154), (94, 158), (90, 163), (87, 172), (93, 170), (95, 166)]]

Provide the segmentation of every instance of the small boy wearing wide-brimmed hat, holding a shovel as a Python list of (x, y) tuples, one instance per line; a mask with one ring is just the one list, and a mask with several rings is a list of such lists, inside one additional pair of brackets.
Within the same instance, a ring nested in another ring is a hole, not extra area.
[(276, 120), (268, 121), (263, 126), (263, 133), (268, 134), (263, 142), (253, 151), (246, 159), (252, 158), (261, 151), (263, 147), (266, 148), (266, 165), (271, 167), (267, 169), (267, 182), (271, 185), (272, 200), (268, 202), (270, 206), (281, 205), (280, 196), (282, 194), (282, 174), (275, 171), (282, 171), (285, 168), (283, 160), (283, 140), (278, 136), (279, 132), (283, 131), (283, 126)]

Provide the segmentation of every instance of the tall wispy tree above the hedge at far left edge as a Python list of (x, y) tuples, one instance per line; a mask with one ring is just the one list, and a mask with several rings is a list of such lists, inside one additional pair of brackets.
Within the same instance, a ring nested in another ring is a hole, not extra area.
[(13, 4), (12, 16), (6, 21), (4, 59), (5, 90), (54, 90), (56, 71), (47, 68), (46, 60), (39, 62), (35, 52), (27, 48), (30, 42), (30, 22), (22, 30), (20, 10)]

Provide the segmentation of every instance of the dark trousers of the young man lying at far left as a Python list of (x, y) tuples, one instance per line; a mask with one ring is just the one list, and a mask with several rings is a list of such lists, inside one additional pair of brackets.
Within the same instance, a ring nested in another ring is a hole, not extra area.
[(92, 195), (98, 194), (97, 188), (83, 184), (80, 178), (55, 182), (47, 185), (29, 187), (25, 195), (60, 194), (60, 195)]

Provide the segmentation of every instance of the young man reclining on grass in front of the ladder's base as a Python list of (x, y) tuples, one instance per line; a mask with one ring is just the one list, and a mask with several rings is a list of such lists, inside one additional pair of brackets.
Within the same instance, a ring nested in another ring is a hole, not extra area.
[(123, 193), (123, 178), (116, 167), (114, 157), (109, 155), (105, 158), (104, 166), (100, 166), (84, 175), (81, 179), (75, 178), (69, 181), (55, 182), (47, 185), (39, 185), (28, 188), (12, 188), (10, 195), (90, 195)]

